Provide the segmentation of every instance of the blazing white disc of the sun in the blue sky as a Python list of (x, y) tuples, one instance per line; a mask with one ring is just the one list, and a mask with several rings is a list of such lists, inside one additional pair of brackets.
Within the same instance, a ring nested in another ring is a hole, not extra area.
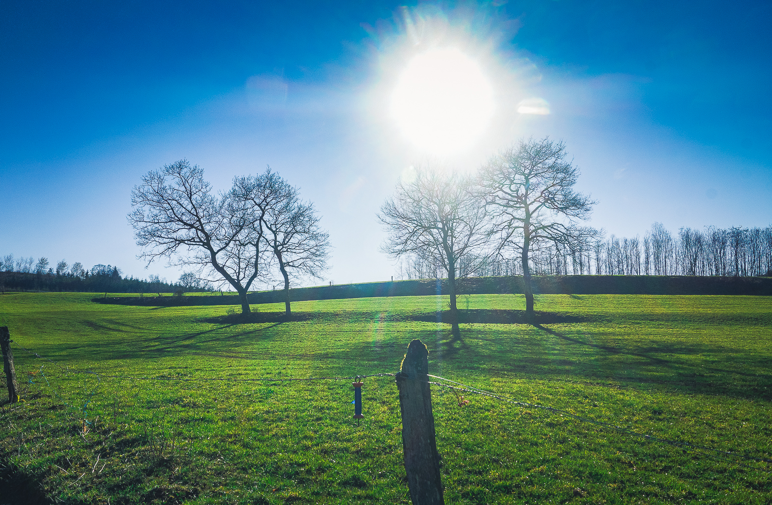
[(424, 150), (446, 155), (472, 145), (493, 116), (493, 89), (477, 62), (458, 49), (411, 59), (391, 96), (391, 116)]

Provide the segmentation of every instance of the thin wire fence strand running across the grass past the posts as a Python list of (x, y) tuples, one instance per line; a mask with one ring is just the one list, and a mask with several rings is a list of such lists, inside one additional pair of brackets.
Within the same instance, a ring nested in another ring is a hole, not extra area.
[[(44, 359), (48, 362), (51, 362), (53, 365), (56, 365), (61, 369), (62, 371), (66, 373), (72, 373), (72, 374), (84, 374), (84, 375), (93, 375), (97, 377), (97, 385), (91, 389), (91, 392), (87, 395), (86, 402), (84, 402), (82, 407), (79, 406), (73, 406), (70, 403), (66, 402), (65, 399), (59, 394), (59, 392), (56, 391), (56, 388), (54, 388), (49, 380), (48, 377), (46, 377), (45, 373), (43, 372), (43, 367), (41, 366), (39, 373), (42, 375), (43, 379), (46, 381), (46, 385), (48, 385), (49, 389), (53, 392), (53, 394), (61, 401), (64, 405), (68, 406), (71, 409), (80, 409), (80, 413), (83, 414), (83, 423), (84, 427), (86, 424), (90, 424), (88, 419), (86, 419), (86, 408), (91, 402), (91, 399), (93, 399), (94, 394), (97, 392), (97, 389), (99, 385), (101, 385), (102, 379), (127, 379), (132, 381), (162, 381), (162, 382), (261, 382), (261, 383), (279, 383), (279, 382), (313, 382), (313, 381), (340, 381), (340, 380), (355, 380), (357, 382), (360, 382), (361, 379), (369, 379), (369, 378), (380, 378), (380, 377), (395, 377), (397, 374), (395, 373), (388, 373), (388, 372), (380, 372), (380, 373), (373, 373), (373, 374), (367, 374), (367, 375), (351, 375), (351, 376), (323, 376), (323, 377), (291, 377), (291, 378), (265, 378), (265, 377), (259, 377), (259, 378), (248, 378), (248, 379), (239, 379), (239, 378), (229, 378), (229, 377), (201, 377), (196, 379), (191, 378), (177, 378), (177, 377), (149, 377), (149, 376), (133, 376), (133, 375), (116, 375), (116, 374), (109, 374), (109, 373), (100, 373), (100, 372), (94, 372), (93, 370), (79, 370), (79, 369), (72, 369), (69, 368), (69, 366), (63, 366), (59, 362), (55, 362), (52, 359), (47, 358), (46, 356), (40, 355), (37, 352), (30, 351), (27, 348), (23, 348), (19, 345), (16, 346), (19, 349), (22, 349), (25, 352), (28, 352), (30, 355), (35, 356), (38, 359)], [(533, 402), (526, 402), (520, 399), (513, 399), (509, 396), (503, 395), (499, 392), (490, 392), (485, 389), (479, 389), (472, 385), (466, 385), (462, 382), (456, 382), (452, 379), (445, 379), (444, 377), (440, 377), (438, 375), (426, 375), (429, 378), (437, 379), (437, 381), (444, 381), (444, 382), (436, 382), (436, 381), (421, 381), (426, 382), (429, 385), (435, 385), (440, 388), (445, 389), (451, 389), (454, 392), (468, 392), (475, 395), (480, 396), (486, 396), (491, 399), (499, 400), (499, 402), (506, 402), (511, 405), (520, 406), (520, 407), (527, 407), (527, 408), (533, 408), (533, 409), (541, 409), (547, 412), (552, 412), (555, 414), (558, 414), (560, 416), (565, 416), (574, 420), (577, 420), (581, 423), (590, 423), (595, 426), (600, 426), (603, 429), (607, 429), (612, 432), (616, 433), (622, 433), (625, 435), (629, 435), (632, 437), (635, 437), (636, 439), (642, 439), (647, 442), (652, 443), (661, 443), (668, 446), (675, 446), (679, 449), (683, 449), (686, 451), (692, 451), (695, 453), (703, 454), (704, 456), (708, 456), (711, 458), (720, 458), (721, 460), (729, 460), (730, 458), (734, 458), (736, 460), (745, 460), (745, 461), (753, 461), (756, 463), (772, 463), (772, 460), (760, 456), (750, 456), (747, 454), (741, 454), (736, 453), (732, 451), (726, 451), (723, 449), (716, 449), (715, 447), (705, 446), (705, 445), (698, 445), (689, 443), (682, 440), (674, 440), (674, 439), (667, 439), (661, 436), (655, 436), (649, 433), (640, 433), (633, 429), (625, 428), (624, 426), (617, 426), (612, 423), (606, 423), (604, 421), (600, 421), (598, 419), (591, 419), (589, 417), (584, 416), (577, 416), (576, 414), (569, 412), (565, 409), (558, 409), (556, 407), (552, 406), (546, 406), (546, 405), (540, 405), (538, 403)], [(411, 378), (405, 378), (407, 380), (418, 380), (418, 379), (411, 379)], [(468, 401), (467, 401), (468, 403)], [(461, 402), (459, 402), (459, 405)], [(734, 463), (740, 464), (743, 466), (744, 463), (740, 463), (735, 461)]]

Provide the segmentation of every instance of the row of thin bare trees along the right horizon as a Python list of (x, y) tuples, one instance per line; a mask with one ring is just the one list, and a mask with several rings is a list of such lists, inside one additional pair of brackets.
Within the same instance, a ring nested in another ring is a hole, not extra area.
[[(643, 238), (616, 237), (575, 247), (545, 244), (529, 266), (535, 275), (706, 275), (772, 277), (772, 226), (683, 227), (672, 234), (655, 223)], [(459, 262), (458, 277), (522, 275), (520, 258), (471, 257)], [(399, 279), (444, 278), (432, 261), (411, 256), (397, 265)]]

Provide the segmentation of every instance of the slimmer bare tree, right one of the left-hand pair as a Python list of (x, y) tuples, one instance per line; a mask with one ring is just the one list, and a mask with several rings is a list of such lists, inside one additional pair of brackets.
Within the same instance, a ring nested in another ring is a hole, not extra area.
[(284, 280), (284, 311), (289, 318), (290, 279), (320, 278), (327, 268), (329, 235), (319, 227), (320, 217), (313, 204), (300, 200), (300, 191), (270, 167), (255, 177), (236, 177), (233, 194), (253, 216), (249, 233), (239, 243), (256, 251), (265, 244), (273, 254)]

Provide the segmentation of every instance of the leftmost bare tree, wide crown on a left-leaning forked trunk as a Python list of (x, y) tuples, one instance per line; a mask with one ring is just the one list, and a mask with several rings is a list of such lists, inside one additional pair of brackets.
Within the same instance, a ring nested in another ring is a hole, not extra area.
[(239, 293), (242, 313), (247, 313), (259, 251), (240, 239), (254, 216), (232, 192), (215, 197), (203, 176), (188, 160), (147, 173), (131, 192), (134, 211), (128, 220), (147, 264), (168, 258), (171, 264), (215, 271)]

